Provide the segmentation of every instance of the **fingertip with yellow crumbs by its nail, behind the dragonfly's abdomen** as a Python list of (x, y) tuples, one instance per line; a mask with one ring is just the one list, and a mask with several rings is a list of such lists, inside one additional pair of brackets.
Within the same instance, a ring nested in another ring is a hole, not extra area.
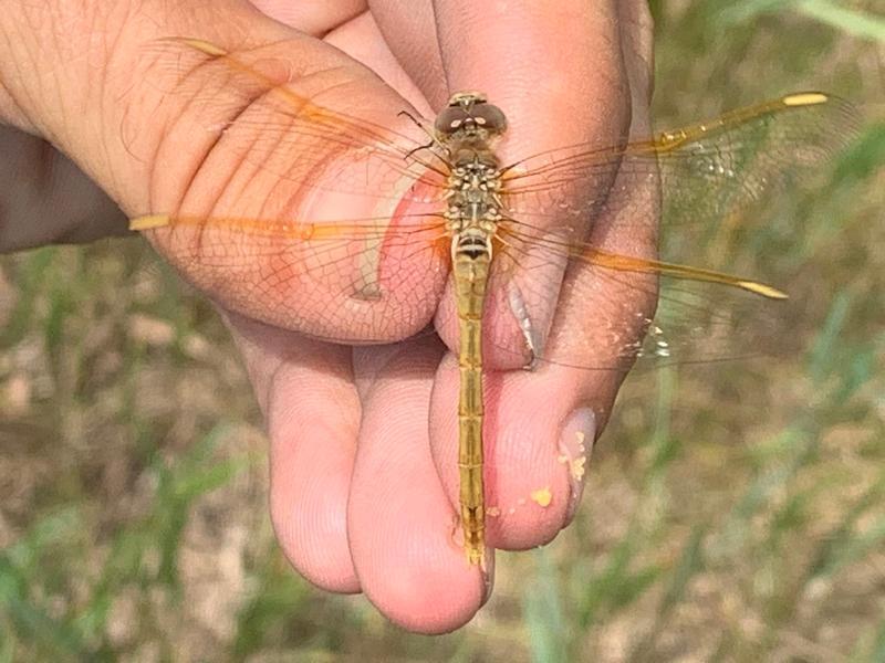
[[(458, 375), (454, 358), (437, 375), (434, 457), (457, 504)], [(576, 511), (596, 435), (583, 371), (488, 371), (485, 396), (486, 527), (489, 545), (524, 550), (551, 541)], [(590, 399), (592, 400), (592, 399)]]

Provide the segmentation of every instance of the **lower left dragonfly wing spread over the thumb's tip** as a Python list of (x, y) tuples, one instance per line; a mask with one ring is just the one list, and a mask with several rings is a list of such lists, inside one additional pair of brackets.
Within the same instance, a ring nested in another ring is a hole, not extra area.
[(132, 227), (226, 308), (335, 343), (420, 332), (449, 273), (445, 222), (434, 214), (316, 223), (154, 215)]

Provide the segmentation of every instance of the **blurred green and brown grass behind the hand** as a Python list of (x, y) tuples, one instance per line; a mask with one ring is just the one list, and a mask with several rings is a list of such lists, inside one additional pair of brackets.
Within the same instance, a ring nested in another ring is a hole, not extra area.
[(632, 376), (574, 525), (426, 638), (289, 568), (237, 352), (145, 243), (0, 257), (0, 662), (885, 661), (885, 8), (652, 4), (658, 127), (818, 88), (865, 116), (779, 201), (802, 351)]

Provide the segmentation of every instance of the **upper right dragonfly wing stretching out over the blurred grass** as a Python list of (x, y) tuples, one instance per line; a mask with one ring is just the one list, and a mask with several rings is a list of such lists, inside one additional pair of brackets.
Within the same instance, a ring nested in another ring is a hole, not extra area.
[[(808, 181), (856, 134), (858, 116), (839, 97), (798, 93), (624, 147), (551, 150), (509, 171), (508, 208), (587, 223), (603, 208), (632, 207), (632, 191), (658, 182), (660, 225), (704, 231), (772, 192)], [(616, 189), (610, 186), (617, 176)], [(543, 212), (546, 210), (546, 212)], [(622, 225), (647, 227), (654, 214)], [(684, 236), (691, 241), (690, 233)]]

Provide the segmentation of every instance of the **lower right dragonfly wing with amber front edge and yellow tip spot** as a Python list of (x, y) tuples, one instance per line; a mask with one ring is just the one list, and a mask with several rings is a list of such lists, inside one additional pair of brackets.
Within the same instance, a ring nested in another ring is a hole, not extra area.
[(575, 243), (566, 256), (556, 240), (527, 242), (511, 236), (498, 256), (486, 317), (490, 365), (534, 360), (626, 371), (636, 362), (714, 362), (793, 349), (787, 341), (795, 337), (784, 332), (799, 303), (767, 284), (608, 253), (600, 244)]

